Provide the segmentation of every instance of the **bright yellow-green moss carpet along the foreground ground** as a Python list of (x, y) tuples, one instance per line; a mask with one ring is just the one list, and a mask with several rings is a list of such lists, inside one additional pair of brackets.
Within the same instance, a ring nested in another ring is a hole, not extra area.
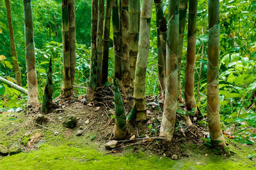
[[(22, 139), (31, 129), (28, 120), (25, 113), (17, 114), (16, 119), (0, 114), (0, 143), (8, 148), (17, 143), (24, 148)], [(256, 169), (255, 159), (248, 159), (248, 155), (256, 155), (256, 147), (234, 143), (230, 139), (226, 139), (229, 150), (234, 153), (230, 157), (214, 155), (205, 145), (184, 143), (181, 148), (189, 156), (172, 160), (164, 155), (154, 155), (150, 150), (142, 152), (140, 146), (135, 152), (134, 147), (129, 146), (122, 152), (104, 154), (108, 151), (104, 149), (104, 143), (95, 140), (96, 132), (75, 136), (75, 132), (66, 131), (60, 123), (51, 123), (47, 128), (41, 129), (40, 142), (33, 149), (0, 156), (0, 169)], [(49, 129), (66, 132), (54, 136)]]

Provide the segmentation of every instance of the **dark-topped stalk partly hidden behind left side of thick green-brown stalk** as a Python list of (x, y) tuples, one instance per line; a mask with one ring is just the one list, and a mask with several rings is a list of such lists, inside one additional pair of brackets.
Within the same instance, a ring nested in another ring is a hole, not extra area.
[(157, 61), (158, 61), (158, 80), (159, 92), (163, 92), (164, 78), (166, 74), (166, 19), (163, 11), (163, 1), (154, 0), (156, 5), (156, 25), (157, 25)]

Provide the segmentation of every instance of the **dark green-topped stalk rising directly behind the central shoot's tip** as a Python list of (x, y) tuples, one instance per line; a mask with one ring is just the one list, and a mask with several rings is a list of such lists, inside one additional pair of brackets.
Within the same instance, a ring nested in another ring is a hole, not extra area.
[(121, 79), (121, 60), (120, 60), (120, 25), (118, 0), (114, 0), (112, 8), (112, 23), (113, 23), (113, 44), (115, 51), (115, 78)]

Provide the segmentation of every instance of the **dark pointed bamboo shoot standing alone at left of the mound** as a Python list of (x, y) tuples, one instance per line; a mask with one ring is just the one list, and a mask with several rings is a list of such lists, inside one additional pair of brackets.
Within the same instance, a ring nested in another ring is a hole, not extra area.
[(50, 58), (47, 77), (46, 77), (46, 85), (44, 89), (44, 97), (42, 101), (41, 111), (47, 113), (52, 108), (52, 57)]

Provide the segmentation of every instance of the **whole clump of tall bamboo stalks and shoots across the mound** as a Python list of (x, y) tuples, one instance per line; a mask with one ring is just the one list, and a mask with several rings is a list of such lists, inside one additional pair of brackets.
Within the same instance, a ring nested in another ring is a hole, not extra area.
[[(10, 43), (12, 48), (16, 88), (22, 86), (19, 62), (13, 41), (10, 1), (5, 0)], [(154, 3), (154, 4), (153, 4)], [(127, 123), (141, 125), (147, 120), (145, 100), (145, 76), (150, 46), (150, 20), (152, 8), (156, 8), (157, 59), (159, 91), (164, 94), (163, 120), (160, 136), (172, 140), (181, 91), (185, 94), (186, 110), (198, 114), (195, 102), (195, 51), (197, 0), (168, 0), (168, 15), (161, 0), (92, 0), (90, 81), (86, 101), (95, 100), (100, 87), (108, 80), (109, 39), (113, 39), (115, 52), (114, 135), (121, 139), (127, 132)], [(218, 94), (218, 69), (220, 51), (220, 1), (209, 0), (209, 45), (207, 60), (207, 122), (212, 141), (225, 145), (221, 132)], [(63, 85), (61, 99), (73, 94), (76, 71), (76, 9), (75, 0), (61, 0), (63, 41)], [(188, 23), (186, 17), (188, 13)], [(35, 69), (35, 45), (31, 0), (24, 0), (26, 69), (28, 80), (28, 105), (38, 104), (38, 85)], [(180, 85), (180, 69), (184, 39), (184, 27), (188, 24), (188, 49), (186, 53), (186, 78), (184, 89)], [(113, 37), (110, 37), (110, 29)], [(52, 107), (52, 60), (49, 61), (42, 111)], [(4, 81), (4, 80), (3, 80)], [(122, 95), (121, 95), (122, 94)], [(132, 97), (134, 107), (125, 115), (122, 97)], [(189, 116), (187, 117), (189, 120)]]

